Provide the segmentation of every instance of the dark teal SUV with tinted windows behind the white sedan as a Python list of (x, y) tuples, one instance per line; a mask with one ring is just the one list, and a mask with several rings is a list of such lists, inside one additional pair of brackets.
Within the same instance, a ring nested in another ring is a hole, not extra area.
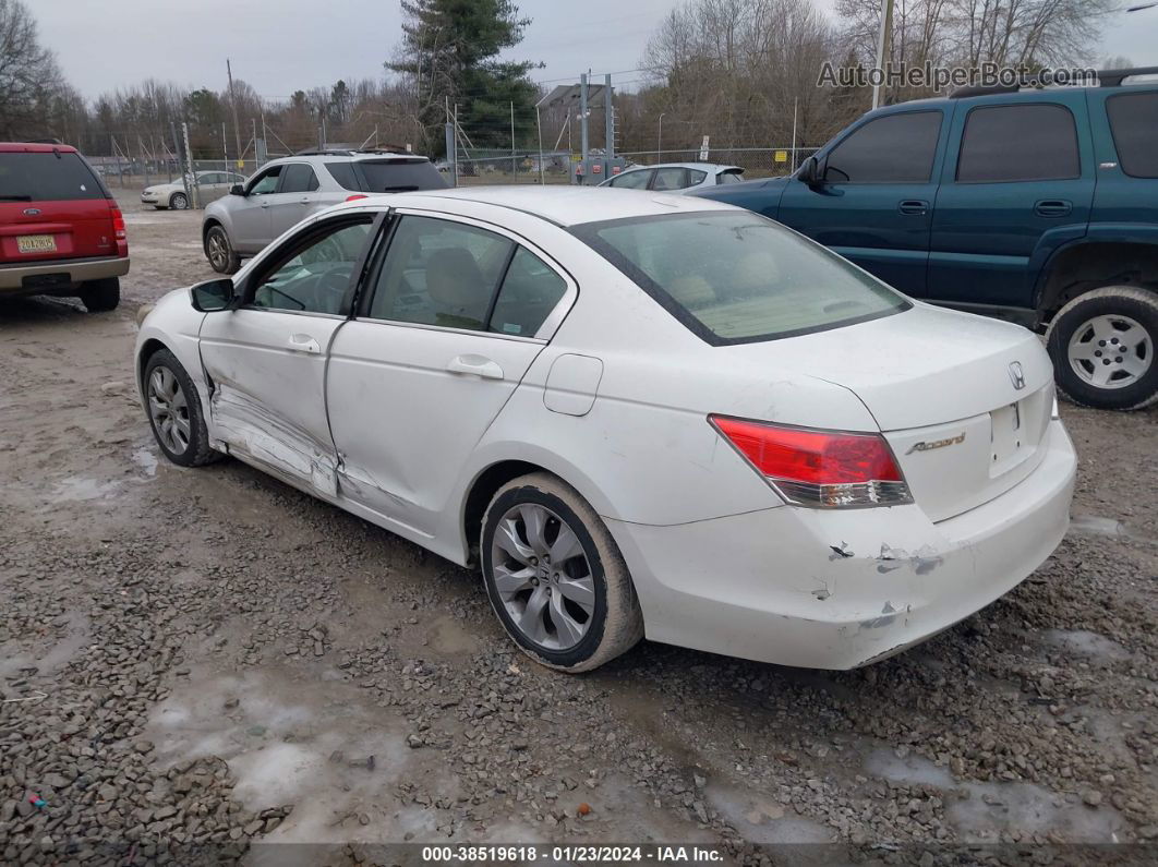
[(697, 194), (913, 297), (1041, 331), (1064, 396), (1142, 409), (1158, 401), (1158, 67), (1098, 85), (878, 109), (792, 177)]

